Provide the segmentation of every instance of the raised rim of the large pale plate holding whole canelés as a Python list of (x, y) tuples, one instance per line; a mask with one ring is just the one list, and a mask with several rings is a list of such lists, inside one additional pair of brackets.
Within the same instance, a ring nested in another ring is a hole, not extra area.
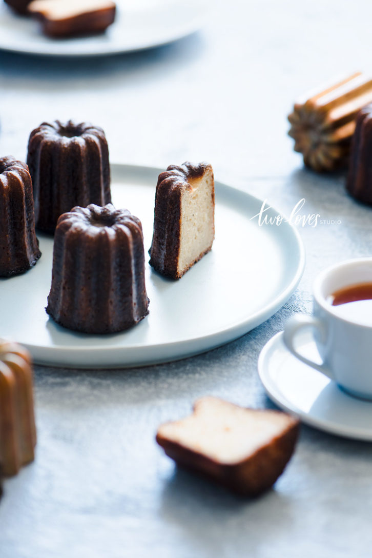
[[(112, 174), (115, 173), (125, 173), (128, 172), (132, 174), (140, 174), (146, 172), (148, 174), (158, 175), (163, 172), (160, 167), (146, 166), (146, 165), (127, 165), (123, 163), (113, 162), (110, 163), (110, 169)], [(225, 191), (231, 191), (237, 193), (238, 195), (244, 195), (245, 198), (253, 200), (253, 203), (262, 204), (261, 199), (257, 196), (249, 194), (242, 188), (237, 188), (235, 186), (229, 186), (224, 182), (218, 180), (215, 181), (216, 190), (222, 189)], [(272, 207), (272, 210), (279, 214), (277, 209)], [(30, 350), (33, 355), (33, 360), (37, 364), (41, 365), (51, 365), (54, 367), (64, 367), (64, 368), (89, 368), (89, 369), (114, 369), (114, 368), (135, 368), (144, 367), (152, 364), (172, 362), (174, 360), (181, 360), (183, 358), (191, 357), (195, 354), (205, 353), (221, 345), (230, 343), (231, 341), (238, 339), (240, 336), (245, 335), (252, 329), (256, 328), (258, 325), (264, 323), (268, 320), (275, 312), (277, 312), (283, 304), (289, 299), (296, 289), (303, 271), (305, 268), (305, 247), (303, 245), (301, 235), (299, 234), (296, 227), (290, 223), (286, 223), (286, 227), (291, 231), (293, 235), (292, 238), (296, 243), (298, 249), (298, 259), (296, 262), (296, 271), (291, 277), (291, 281), (288, 282), (285, 288), (279, 294), (277, 294), (272, 301), (269, 302), (263, 309), (256, 311), (253, 315), (250, 315), (248, 319), (240, 320), (228, 328), (225, 328), (216, 333), (210, 333), (203, 336), (196, 336), (195, 338), (182, 339), (179, 341), (170, 341), (158, 344), (132, 344), (129, 347), (123, 347), (117, 344), (105, 345), (105, 347), (84, 347), (83, 343), (78, 346), (75, 345), (63, 345), (63, 347), (40, 347), (33, 343), (24, 343), (20, 341), (28, 350)], [(112, 334), (115, 335), (115, 334)], [(215, 343), (211, 343), (210, 340), (214, 339)], [(192, 349), (190, 345), (197, 345), (196, 348)], [(200, 347), (201, 345), (201, 347)], [(148, 353), (157, 352), (158, 350), (168, 349), (168, 356), (163, 355), (162, 357), (148, 357)], [(127, 357), (125, 362), (123, 362), (123, 351), (127, 352)], [(92, 364), (89, 360), (88, 364), (83, 362), (84, 357), (88, 354), (96, 356), (104, 351), (105, 353), (110, 352), (112, 355), (111, 359), (105, 359), (105, 363)], [(146, 351), (146, 355), (142, 359), (138, 359), (134, 353), (139, 351)], [(42, 355), (40, 355), (42, 353)], [(57, 358), (57, 353), (64, 355), (63, 362), (62, 358)], [(73, 355), (73, 359), (66, 359), (66, 353)], [(54, 355), (54, 356), (53, 356)], [(119, 356), (120, 355), (120, 356)], [(134, 359), (134, 361), (133, 361)], [(74, 360), (74, 362), (72, 362)], [(120, 360), (120, 362), (118, 362)], [(114, 362), (115, 361), (115, 362)]]

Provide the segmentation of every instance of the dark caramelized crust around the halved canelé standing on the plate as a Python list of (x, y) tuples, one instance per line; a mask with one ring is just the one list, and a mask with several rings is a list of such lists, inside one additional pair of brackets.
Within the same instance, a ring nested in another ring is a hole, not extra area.
[(210, 242), (192, 258), (188, 264), (180, 268), (180, 251), (182, 243), (182, 198), (193, 189), (193, 182), (211, 175), (212, 189), (210, 205), (214, 214), (214, 182), (213, 171), (208, 163), (192, 165), (185, 162), (181, 166), (170, 165), (162, 172), (157, 181), (154, 209), (154, 232), (149, 249), (150, 265), (162, 275), (179, 279), (199, 259), (212, 248), (214, 239), (214, 219), (212, 219)]

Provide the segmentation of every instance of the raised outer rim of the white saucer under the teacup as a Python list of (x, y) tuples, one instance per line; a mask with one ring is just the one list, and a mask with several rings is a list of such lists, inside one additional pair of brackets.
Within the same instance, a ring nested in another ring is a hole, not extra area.
[[(270, 400), (272, 400), (278, 407), (282, 408), (284, 411), (291, 413), (301, 419), (301, 421), (311, 426), (317, 430), (321, 430), (323, 432), (327, 432), (327, 434), (333, 434), (335, 436), (339, 436), (346, 439), (352, 440), (360, 440), (370, 442), (372, 441), (372, 429), (370, 431), (365, 430), (355, 430), (354, 427), (350, 426), (341, 426), (337, 425), (335, 422), (330, 422), (326, 420), (316, 419), (299, 409), (296, 405), (292, 405), (290, 401), (283, 395), (281, 390), (277, 387), (277, 384), (274, 382), (272, 376), (268, 372), (268, 359), (270, 357), (270, 353), (278, 346), (279, 343), (283, 344), (282, 341), (284, 335), (284, 331), (278, 331), (271, 339), (265, 343), (264, 347), (261, 349), (258, 361), (257, 361), (257, 369), (260, 381), (265, 389), (265, 392)], [(274, 385), (274, 389), (271, 386)], [(347, 396), (345, 393), (346, 397)], [(372, 406), (372, 402), (370, 403)], [(372, 408), (372, 407), (371, 407)]]

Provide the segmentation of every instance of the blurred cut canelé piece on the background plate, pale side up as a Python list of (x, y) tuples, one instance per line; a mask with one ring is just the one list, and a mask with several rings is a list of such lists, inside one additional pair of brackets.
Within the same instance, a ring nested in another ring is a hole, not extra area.
[(116, 4), (110, 0), (33, 0), (28, 13), (50, 37), (100, 33), (115, 20)]

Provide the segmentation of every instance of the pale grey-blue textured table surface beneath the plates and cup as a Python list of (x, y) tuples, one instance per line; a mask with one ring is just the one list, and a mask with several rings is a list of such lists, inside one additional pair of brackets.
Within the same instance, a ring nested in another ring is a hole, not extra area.
[(288, 316), (311, 311), (319, 270), (371, 255), (371, 210), (345, 195), (343, 176), (303, 170), (286, 136), (298, 94), (369, 70), (371, 18), (361, 0), (218, 0), (202, 32), (161, 49), (67, 61), (0, 54), (1, 155), (25, 157), (44, 120), (90, 120), (113, 161), (209, 160), (218, 179), (285, 213), (306, 198), (306, 213), (341, 220), (299, 230), (307, 266), (297, 291), (225, 347), (114, 372), (36, 367), (37, 455), (4, 483), (1, 558), (371, 556), (370, 444), (304, 426), (275, 488), (244, 501), (176, 470), (154, 443), (157, 425), (202, 395), (273, 407), (260, 349)]

